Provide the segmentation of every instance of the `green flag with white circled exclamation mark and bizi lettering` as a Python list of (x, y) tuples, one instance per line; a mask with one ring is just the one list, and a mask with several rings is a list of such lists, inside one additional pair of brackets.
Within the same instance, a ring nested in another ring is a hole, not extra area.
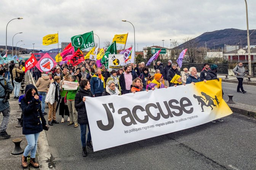
[(72, 36), (71, 43), (72, 43), (72, 46), (75, 47), (75, 51), (77, 51), (78, 48), (80, 50), (83, 50), (89, 47), (94, 47), (93, 31), (82, 34), (82, 35)]

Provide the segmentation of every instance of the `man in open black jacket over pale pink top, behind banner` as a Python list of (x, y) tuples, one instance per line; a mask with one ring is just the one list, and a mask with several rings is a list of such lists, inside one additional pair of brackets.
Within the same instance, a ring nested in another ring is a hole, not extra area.
[(131, 84), (135, 79), (135, 75), (131, 74), (130, 68), (128, 66), (125, 67), (125, 72), (123, 72), (120, 76), (119, 83), (122, 89), (122, 94), (127, 94), (131, 90)]

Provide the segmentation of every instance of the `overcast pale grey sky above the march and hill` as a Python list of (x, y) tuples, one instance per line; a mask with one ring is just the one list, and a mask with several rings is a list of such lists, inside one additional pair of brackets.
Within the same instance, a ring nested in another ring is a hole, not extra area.
[[(256, 0), (247, 0), (249, 29), (256, 29)], [(159, 45), (170, 47), (170, 39), (182, 42), (206, 31), (237, 28), (246, 30), (244, 0), (1, 0), (0, 44), (26, 44), (22, 47), (49, 50), (58, 44), (42, 45), (42, 37), (59, 31), (59, 44), (70, 42), (74, 35), (93, 31), (100, 38), (100, 45), (107, 39), (112, 42), (115, 34), (129, 33), (126, 46), (136, 48)], [(98, 43), (98, 37), (94, 36)], [(117, 44), (120, 46), (121, 44)], [(137, 50), (137, 49), (136, 49)]]

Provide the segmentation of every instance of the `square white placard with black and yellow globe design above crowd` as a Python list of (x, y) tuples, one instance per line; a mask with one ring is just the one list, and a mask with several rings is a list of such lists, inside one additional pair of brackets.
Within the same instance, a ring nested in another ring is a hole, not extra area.
[(123, 54), (109, 54), (109, 71), (123, 68), (120, 63), (123, 63)]

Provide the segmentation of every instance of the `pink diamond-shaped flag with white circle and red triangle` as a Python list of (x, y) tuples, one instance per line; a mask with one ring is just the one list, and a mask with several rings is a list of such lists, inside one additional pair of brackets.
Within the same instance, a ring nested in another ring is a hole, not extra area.
[(48, 72), (56, 65), (57, 65), (56, 61), (54, 61), (53, 58), (51, 58), (51, 56), (48, 53), (45, 53), (45, 55), (43, 55), (43, 57), (37, 62), (35, 66), (41, 72), (43, 71)]

